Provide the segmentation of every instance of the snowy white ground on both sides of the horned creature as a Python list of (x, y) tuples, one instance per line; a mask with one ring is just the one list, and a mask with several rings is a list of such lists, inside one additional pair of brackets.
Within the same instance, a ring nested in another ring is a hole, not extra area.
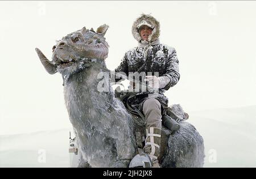
[[(189, 113), (204, 138), (204, 167), (256, 167), (256, 106)], [(0, 136), (0, 167), (69, 167), (69, 131)]]

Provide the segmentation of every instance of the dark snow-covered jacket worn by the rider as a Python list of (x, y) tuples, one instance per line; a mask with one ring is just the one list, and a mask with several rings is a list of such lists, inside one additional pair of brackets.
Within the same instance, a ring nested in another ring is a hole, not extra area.
[[(154, 45), (148, 50), (147, 59), (144, 59), (143, 48), (134, 48), (125, 53), (120, 65), (115, 69), (115, 72), (123, 72), (127, 76), (129, 72), (158, 72), (159, 76), (168, 76), (170, 82), (162, 89), (159, 89), (159, 95), (155, 98), (163, 105), (168, 106), (168, 99), (163, 95), (164, 90), (168, 90), (180, 79), (179, 61), (177, 59), (176, 50), (166, 45)], [(138, 93), (136, 99), (131, 101), (131, 104), (141, 110), (144, 100), (148, 98), (148, 93)]]

